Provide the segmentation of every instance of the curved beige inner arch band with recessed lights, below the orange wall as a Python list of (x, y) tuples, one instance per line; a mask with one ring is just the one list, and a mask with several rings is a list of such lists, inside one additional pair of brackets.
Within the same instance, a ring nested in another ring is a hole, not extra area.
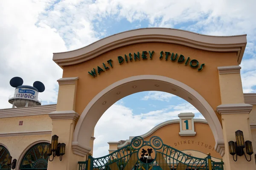
[(215, 150), (224, 156), (224, 141), (221, 123), (209, 103), (193, 88), (169, 77), (159, 75), (140, 75), (128, 77), (113, 83), (97, 94), (82, 112), (73, 136), (73, 152), (87, 150), (94, 127), (103, 113), (119, 99), (141, 91), (163, 91), (174, 94), (191, 103), (207, 120), (215, 138)]

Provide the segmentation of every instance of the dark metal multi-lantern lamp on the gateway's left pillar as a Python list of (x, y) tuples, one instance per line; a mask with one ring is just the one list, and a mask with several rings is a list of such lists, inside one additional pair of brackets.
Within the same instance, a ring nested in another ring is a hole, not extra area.
[[(65, 147), (66, 147), (66, 144), (58, 143), (58, 136), (53, 135), (52, 143), (47, 146), (48, 160), (53, 161), (55, 156), (59, 156), (60, 161), (62, 161), (62, 156), (65, 154)], [(50, 160), (51, 155), (53, 156), (52, 160)]]

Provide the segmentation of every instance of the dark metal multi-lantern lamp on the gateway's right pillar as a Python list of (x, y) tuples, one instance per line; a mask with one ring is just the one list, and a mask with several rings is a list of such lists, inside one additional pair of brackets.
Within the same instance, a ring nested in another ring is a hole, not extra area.
[[(245, 146), (244, 146), (245, 144)], [(253, 145), (250, 141), (244, 142), (244, 134), (241, 130), (236, 131), (236, 142), (230, 141), (228, 142), (230, 155), (233, 156), (233, 160), (237, 161), (237, 156), (245, 156), (247, 161), (251, 161), (251, 155), (253, 154)], [(244, 153), (244, 147), (246, 149), (246, 153), (250, 155), (250, 160), (247, 159)], [(234, 159), (234, 155), (236, 154), (236, 160)]]

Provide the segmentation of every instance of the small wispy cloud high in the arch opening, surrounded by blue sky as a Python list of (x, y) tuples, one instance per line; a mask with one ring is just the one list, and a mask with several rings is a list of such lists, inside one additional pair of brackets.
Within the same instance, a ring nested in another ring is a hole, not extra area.
[(142, 100), (160, 100), (169, 102), (175, 95), (162, 91), (148, 91), (148, 94), (142, 97)]

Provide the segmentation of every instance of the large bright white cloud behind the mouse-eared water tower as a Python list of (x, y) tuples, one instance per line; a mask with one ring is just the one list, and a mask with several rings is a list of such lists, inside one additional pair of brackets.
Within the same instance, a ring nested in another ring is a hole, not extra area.
[(66, 51), (65, 43), (55, 29), (35, 26), (40, 12), (50, 5), (49, 1), (1, 1), (0, 5), (0, 108), (11, 108), (8, 96), (14, 94), (9, 85), (12, 77), (23, 78), (24, 85), (41, 81), (46, 91), (39, 97), (56, 102), (57, 79), (61, 68), (52, 61), (52, 52)]

